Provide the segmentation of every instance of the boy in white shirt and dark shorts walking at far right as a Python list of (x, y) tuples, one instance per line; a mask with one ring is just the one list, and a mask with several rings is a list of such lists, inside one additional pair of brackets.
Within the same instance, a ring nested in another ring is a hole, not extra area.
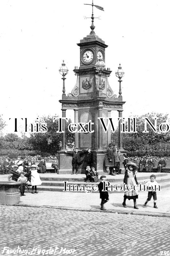
[(153, 202), (154, 202), (154, 208), (158, 208), (158, 206), (156, 205), (156, 200), (157, 200), (157, 196), (156, 196), (156, 188), (159, 188), (159, 184), (158, 182), (156, 182), (156, 176), (154, 174), (152, 174), (150, 176), (150, 181), (148, 181), (145, 184), (146, 188), (148, 187), (148, 198), (146, 200), (146, 202), (144, 203), (144, 207), (146, 206), (146, 204), (148, 203), (148, 201), (151, 200), (152, 196), (153, 196)]

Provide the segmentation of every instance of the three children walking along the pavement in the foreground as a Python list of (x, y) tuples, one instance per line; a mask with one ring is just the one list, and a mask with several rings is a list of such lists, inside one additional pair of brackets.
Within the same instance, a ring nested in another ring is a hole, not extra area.
[[(132, 188), (134, 188), (135, 185), (138, 184), (137, 182), (137, 178), (136, 178), (136, 173), (137, 173), (137, 165), (133, 162), (129, 162), (126, 164), (126, 171), (125, 171), (125, 175), (124, 175), (124, 180), (123, 183), (125, 183), (127, 186), (131, 185)], [(109, 200), (109, 195), (108, 195), (108, 188), (107, 186), (105, 186), (106, 190), (103, 191), (104, 189), (104, 181), (106, 181), (106, 176), (102, 175), (100, 177), (100, 183), (98, 185), (99, 188), (99, 192), (100, 192), (100, 199), (101, 199), (101, 210), (105, 211), (106, 208), (104, 208), (104, 204), (108, 202)], [(148, 198), (146, 200), (146, 202), (144, 203), (143, 207), (146, 207), (146, 204), (151, 200), (152, 196), (153, 196), (153, 202), (154, 202), (154, 208), (158, 208), (158, 206), (156, 205), (156, 201), (157, 201), (157, 194), (155, 191), (155, 186), (158, 187), (158, 183), (156, 182), (156, 176), (154, 174), (152, 174), (150, 176), (150, 181), (148, 181), (146, 184), (146, 186), (148, 186), (148, 188), (151, 188), (150, 191), (148, 191)], [(149, 190), (149, 189), (148, 189)], [(136, 199), (138, 198), (138, 192), (134, 189), (130, 190), (130, 191), (125, 191), (124, 193), (124, 200), (123, 200), (123, 207), (127, 208), (126, 205), (126, 200), (130, 200), (132, 199), (134, 202), (134, 209), (139, 209), (136, 203)]]

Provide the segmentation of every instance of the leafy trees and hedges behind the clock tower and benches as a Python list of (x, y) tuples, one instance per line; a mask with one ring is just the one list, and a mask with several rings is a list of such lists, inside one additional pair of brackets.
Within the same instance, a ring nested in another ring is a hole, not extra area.
[[(143, 116), (136, 117), (137, 133), (123, 133), (123, 148), (127, 150), (128, 156), (170, 156), (170, 131), (164, 133), (159, 131), (159, 125), (166, 122), (169, 124), (168, 114), (148, 113)], [(154, 117), (157, 120), (157, 132), (155, 133), (149, 125), (147, 129), (149, 133), (144, 131), (144, 117), (154, 124)], [(49, 154), (56, 154), (61, 149), (62, 134), (57, 133), (58, 121), (53, 123), (52, 116), (39, 117), (40, 122), (46, 122), (48, 131), (46, 133), (32, 133), (30, 137), (22, 134), (18, 137), (17, 134), (8, 133), (2, 135), (2, 130), (5, 127), (3, 116), (0, 115), (0, 155), (18, 154), (35, 156), (41, 154), (48, 156)], [(66, 123), (66, 145), (68, 148), (74, 147), (74, 133), (68, 131), (68, 125), (71, 120)], [(127, 124), (126, 124), (127, 128)], [(118, 129), (111, 134), (111, 142), (118, 145)]]

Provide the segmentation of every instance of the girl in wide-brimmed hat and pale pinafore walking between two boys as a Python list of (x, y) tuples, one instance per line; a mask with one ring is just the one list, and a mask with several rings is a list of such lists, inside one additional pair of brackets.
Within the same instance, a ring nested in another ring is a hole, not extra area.
[[(129, 162), (126, 164), (127, 165), (127, 169), (125, 171), (125, 176), (124, 176), (124, 180), (123, 180), (123, 183), (125, 183), (127, 186), (128, 185), (131, 185), (129, 188), (134, 188), (135, 185), (138, 184), (137, 182), (137, 178), (136, 178), (136, 168), (137, 168), (137, 165), (133, 162)], [(130, 189), (131, 190), (131, 189)], [(134, 202), (134, 208), (135, 209), (139, 209), (137, 207), (137, 204), (136, 204), (136, 199), (138, 198), (138, 192), (135, 191), (134, 189), (132, 189), (131, 191), (125, 191), (125, 194), (124, 194), (124, 201), (123, 201), (123, 207), (127, 208), (126, 206), (126, 199), (130, 200), (130, 199), (133, 199), (133, 202)]]

